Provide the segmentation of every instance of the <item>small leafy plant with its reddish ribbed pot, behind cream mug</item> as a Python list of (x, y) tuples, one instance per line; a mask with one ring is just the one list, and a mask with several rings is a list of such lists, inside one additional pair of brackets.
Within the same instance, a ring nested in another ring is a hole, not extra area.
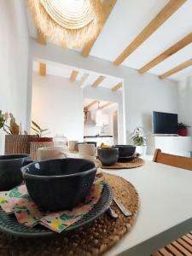
[(48, 129), (42, 129), (36, 122), (32, 121), (32, 130), (35, 131), (35, 137), (32, 137), (30, 145), (30, 155), (32, 160), (38, 160), (38, 148), (52, 147), (53, 137), (44, 137), (49, 132)]

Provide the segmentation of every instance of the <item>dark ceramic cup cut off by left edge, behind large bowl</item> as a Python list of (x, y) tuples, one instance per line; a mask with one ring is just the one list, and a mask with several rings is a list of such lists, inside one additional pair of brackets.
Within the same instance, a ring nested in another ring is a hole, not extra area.
[(20, 168), (26, 165), (29, 159), (29, 154), (0, 155), (0, 191), (13, 189), (23, 181)]

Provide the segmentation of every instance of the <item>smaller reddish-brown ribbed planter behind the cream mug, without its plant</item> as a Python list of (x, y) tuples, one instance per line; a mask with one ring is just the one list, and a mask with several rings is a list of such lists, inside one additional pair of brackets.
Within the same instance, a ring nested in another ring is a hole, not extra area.
[(30, 156), (32, 160), (38, 160), (38, 148), (53, 147), (52, 137), (33, 137), (30, 143)]

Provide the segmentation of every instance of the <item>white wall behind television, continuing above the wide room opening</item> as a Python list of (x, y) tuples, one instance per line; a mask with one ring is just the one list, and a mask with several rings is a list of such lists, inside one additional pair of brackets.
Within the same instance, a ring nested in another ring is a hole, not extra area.
[(136, 70), (122, 65), (115, 67), (112, 62), (91, 55), (83, 58), (79, 52), (70, 49), (63, 51), (55, 44), (41, 46), (33, 39), (30, 40), (30, 44), (33, 58), (55, 61), (124, 79), (125, 86), (121, 101), (125, 117), (122, 124), (125, 122), (127, 140), (130, 132), (137, 125), (142, 125), (146, 133), (150, 133), (153, 110), (177, 113), (176, 82), (168, 79), (160, 80), (149, 73), (141, 75)]

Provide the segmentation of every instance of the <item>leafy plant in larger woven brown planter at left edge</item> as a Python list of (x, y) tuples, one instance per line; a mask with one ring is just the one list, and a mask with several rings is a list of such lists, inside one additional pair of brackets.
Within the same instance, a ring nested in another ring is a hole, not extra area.
[(12, 113), (0, 110), (0, 129), (5, 133), (5, 154), (30, 154), (32, 135), (22, 131)]

